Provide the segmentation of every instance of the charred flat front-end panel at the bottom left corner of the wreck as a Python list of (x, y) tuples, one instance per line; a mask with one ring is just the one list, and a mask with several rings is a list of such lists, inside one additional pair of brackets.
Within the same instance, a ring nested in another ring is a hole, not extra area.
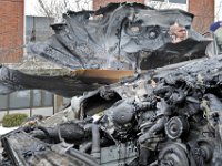
[(90, 155), (72, 149), (72, 144), (46, 145), (24, 132), (16, 131), (2, 142), (14, 166), (99, 166)]

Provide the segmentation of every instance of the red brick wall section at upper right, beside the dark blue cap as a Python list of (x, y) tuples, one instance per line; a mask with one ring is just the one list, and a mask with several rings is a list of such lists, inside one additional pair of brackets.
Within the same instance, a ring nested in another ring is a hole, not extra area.
[(194, 14), (193, 28), (204, 33), (214, 20), (214, 0), (189, 0), (189, 12)]

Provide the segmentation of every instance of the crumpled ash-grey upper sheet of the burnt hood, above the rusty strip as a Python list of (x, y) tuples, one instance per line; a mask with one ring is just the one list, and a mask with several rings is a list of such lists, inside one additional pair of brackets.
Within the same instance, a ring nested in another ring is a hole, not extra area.
[[(193, 15), (182, 10), (154, 10), (138, 3), (110, 3), (97, 11), (69, 11), (52, 24), (56, 34), (31, 50), (71, 69), (151, 69), (204, 56), (206, 39), (191, 28)], [(174, 44), (173, 23), (189, 38)], [(161, 62), (160, 62), (161, 61)], [(154, 65), (153, 65), (154, 63)]]

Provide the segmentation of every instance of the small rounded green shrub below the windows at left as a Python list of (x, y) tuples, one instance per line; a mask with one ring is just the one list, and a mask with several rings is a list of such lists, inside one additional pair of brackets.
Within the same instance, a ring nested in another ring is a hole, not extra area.
[(19, 113), (4, 115), (2, 120), (2, 126), (3, 127), (20, 126), (27, 117), (28, 117), (27, 114), (19, 114)]

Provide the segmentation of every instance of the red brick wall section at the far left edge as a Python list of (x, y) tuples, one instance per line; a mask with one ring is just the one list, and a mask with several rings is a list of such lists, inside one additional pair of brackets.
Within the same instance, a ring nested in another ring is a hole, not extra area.
[(0, 0), (0, 63), (18, 62), (23, 54), (24, 0)]

